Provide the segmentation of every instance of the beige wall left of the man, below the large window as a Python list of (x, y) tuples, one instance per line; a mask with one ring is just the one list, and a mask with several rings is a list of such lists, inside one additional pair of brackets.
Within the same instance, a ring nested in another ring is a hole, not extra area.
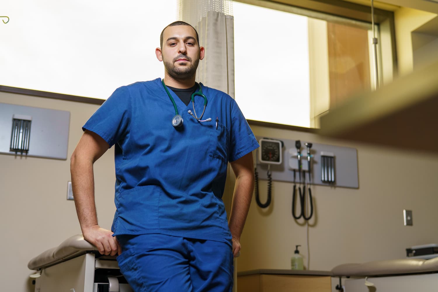
[[(78, 102), (0, 92), (0, 102), (71, 113), (67, 160), (0, 155), (1, 291), (33, 291), (27, 263), (67, 237), (81, 233), (74, 202), (67, 201), (70, 156), (81, 137), (81, 126), (98, 108)], [(95, 164), (99, 223), (110, 228), (115, 207), (114, 162), (111, 148)]]

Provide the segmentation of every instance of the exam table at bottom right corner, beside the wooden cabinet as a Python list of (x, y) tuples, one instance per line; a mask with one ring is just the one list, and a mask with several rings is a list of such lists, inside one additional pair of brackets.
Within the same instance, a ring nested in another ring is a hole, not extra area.
[(438, 257), (341, 264), (332, 269), (332, 275), (350, 277), (345, 280), (346, 292), (437, 291)]

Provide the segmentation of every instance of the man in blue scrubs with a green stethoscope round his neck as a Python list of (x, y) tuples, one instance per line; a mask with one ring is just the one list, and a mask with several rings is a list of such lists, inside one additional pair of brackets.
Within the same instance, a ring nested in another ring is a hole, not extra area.
[[(83, 127), (71, 156), (81, 230), (100, 253), (118, 254), (136, 292), (228, 292), (258, 143), (229, 95), (195, 83), (205, 53), (195, 29), (174, 22), (160, 42), (155, 53), (164, 79), (117, 88)], [(194, 92), (199, 95), (191, 99)], [(176, 115), (183, 120), (179, 127)], [(97, 222), (93, 163), (113, 145), (117, 211), (109, 231)], [(228, 162), (236, 184), (227, 222), (222, 195)]]

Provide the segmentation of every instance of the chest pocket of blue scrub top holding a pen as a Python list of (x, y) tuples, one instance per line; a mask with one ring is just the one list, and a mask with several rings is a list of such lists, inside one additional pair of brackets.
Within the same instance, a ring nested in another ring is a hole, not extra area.
[(209, 124), (210, 131), (210, 151), (209, 155), (228, 162), (228, 129), (221, 123), (218, 123), (216, 129), (216, 122), (212, 120)]

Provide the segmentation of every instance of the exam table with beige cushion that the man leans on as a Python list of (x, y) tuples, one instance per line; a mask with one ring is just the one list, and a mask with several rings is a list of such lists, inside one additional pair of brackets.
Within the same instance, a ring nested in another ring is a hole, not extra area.
[(35, 292), (132, 292), (115, 256), (101, 255), (79, 234), (34, 257)]

